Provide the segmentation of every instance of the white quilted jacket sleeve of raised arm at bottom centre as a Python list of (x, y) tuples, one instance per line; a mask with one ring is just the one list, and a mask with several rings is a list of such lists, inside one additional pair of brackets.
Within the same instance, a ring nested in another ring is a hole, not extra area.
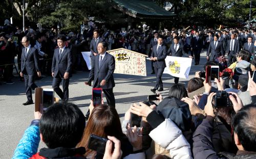
[(165, 119), (153, 129), (150, 137), (161, 147), (169, 151), (174, 159), (193, 158), (190, 145), (182, 135), (179, 127), (170, 119)]

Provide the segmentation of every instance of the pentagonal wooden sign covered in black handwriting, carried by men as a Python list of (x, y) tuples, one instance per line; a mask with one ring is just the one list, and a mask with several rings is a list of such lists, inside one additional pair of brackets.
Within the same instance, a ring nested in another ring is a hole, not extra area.
[(146, 55), (125, 48), (107, 51), (115, 57), (114, 73), (146, 76)]

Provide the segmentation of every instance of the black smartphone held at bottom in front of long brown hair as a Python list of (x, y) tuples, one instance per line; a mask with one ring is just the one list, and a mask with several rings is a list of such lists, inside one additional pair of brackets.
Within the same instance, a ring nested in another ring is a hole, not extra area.
[(88, 148), (97, 151), (101, 154), (104, 154), (107, 141), (108, 139), (101, 138), (99, 136), (91, 134), (88, 143)]

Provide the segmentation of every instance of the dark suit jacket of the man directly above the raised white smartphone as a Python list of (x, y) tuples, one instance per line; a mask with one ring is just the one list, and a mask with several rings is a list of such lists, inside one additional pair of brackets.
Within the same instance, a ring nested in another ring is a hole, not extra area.
[(210, 61), (215, 60), (216, 58), (222, 55), (224, 56), (224, 49), (223, 49), (222, 42), (218, 41), (218, 44), (215, 49), (214, 41), (211, 41), (207, 51), (207, 56), (209, 56)]

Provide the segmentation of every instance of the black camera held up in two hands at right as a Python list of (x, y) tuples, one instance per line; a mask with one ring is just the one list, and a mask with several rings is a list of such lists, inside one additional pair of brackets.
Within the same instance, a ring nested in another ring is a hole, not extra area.
[[(214, 108), (233, 107), (233, 103), (229, 99), (229, 95), (233, 94), (227, 93), (226, 91), (217, 91), (216, 95), (212, 98), (212, 106)], [(234, 95), (233, 97), (236, 98)]]

